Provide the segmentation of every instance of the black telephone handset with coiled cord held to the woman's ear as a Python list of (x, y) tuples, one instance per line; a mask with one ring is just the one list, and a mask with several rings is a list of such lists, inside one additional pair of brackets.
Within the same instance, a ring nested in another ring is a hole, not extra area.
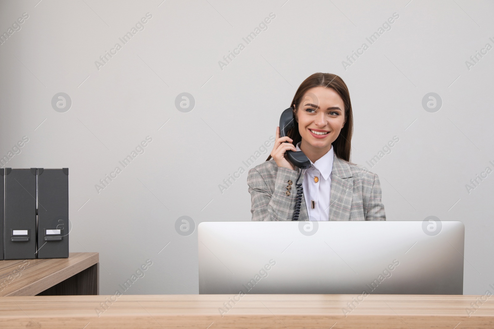
[[(288, 134), (288, 130), (295, 127), (293, 116), (293, 108), (288, 108), (284, 110), (280, 117), (280, 137), (285, 137)], [(288, 143), (288, 142), (285, 142)], [(307, 169), (312, 167), (312, 164), (309, 158), (302, 151), (291, 151), (287, 150), (286, 152), (288, 160), (290, 162), (300, 168), (300, 173), (298, 174), (297, 181), (295, 182), (295, 188), (297, 190), (297, 195), (295, 197), (295, 209), (293, 211), (293, 216), (291, 220), (298, 220), (298, 216), (300, 215), (300, 208), (302, 204), (302, 183), (298, 183), (300, 176), (302, 175), (302, 169)]]

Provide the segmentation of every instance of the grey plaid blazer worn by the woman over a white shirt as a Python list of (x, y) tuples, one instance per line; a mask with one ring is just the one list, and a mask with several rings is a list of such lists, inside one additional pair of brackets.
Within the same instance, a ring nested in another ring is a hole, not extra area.
[[(299, 168), (278, 167), (274, 159), (248, 171), (252, 220), (291, 220), (293, 216)], [(376, 174), (340, 159), (334, 154), (331, 171), (329, 220), (386, 220), (381, 202), (381, 185)], [(302, 183), (304, 173), (298, 183)], [(287, 196), (288, 181), (292, 181)], [(305, 198), (298, 220), (309, 220)]]

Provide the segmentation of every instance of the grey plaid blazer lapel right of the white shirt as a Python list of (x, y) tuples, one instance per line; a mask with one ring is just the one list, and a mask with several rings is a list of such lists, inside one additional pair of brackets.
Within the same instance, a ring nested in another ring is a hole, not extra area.
[(350, 220), (353, 196), (353, 176), (348, 163), (334, 154), (331, 170), (329, 220)]

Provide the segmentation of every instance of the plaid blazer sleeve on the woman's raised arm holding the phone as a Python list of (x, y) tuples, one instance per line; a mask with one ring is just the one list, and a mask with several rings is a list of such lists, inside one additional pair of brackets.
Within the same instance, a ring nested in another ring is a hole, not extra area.
[[(251, 196), (251, 209), (253, 221), (265, 220), (291, 220), (293, 216), (294, 200), (293, 188), (298, 173), (294, 170), (279, 167), (276, 174), (274, 192), (271, 193), (261, 174), (252, 168), (248, 171), (247, 184)], [(288, 181), (291, 180), (292, 189), (287, 196)]]

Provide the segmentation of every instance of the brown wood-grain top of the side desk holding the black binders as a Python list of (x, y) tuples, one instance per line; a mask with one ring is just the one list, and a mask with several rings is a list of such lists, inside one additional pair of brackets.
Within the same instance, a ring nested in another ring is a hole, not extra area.
[(69, 258), (0, 260), (0, 296), (34, 296), (98, 262), (98, 253), (69, 253)]

